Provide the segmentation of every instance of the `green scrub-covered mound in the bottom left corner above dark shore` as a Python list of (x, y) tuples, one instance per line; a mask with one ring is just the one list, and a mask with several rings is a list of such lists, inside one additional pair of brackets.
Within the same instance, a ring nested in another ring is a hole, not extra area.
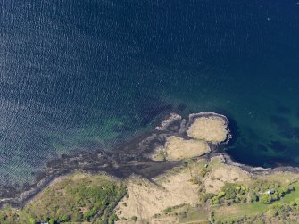
[(5, 208), (0, 223), (114, 223), (126, 187), (103, 175), (74, 174), (47, 187), (21, 211)]

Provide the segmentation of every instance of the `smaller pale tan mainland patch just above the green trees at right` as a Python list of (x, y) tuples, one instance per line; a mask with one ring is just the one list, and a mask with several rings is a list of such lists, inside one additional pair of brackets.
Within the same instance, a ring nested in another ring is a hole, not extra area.
[(250, 181), (252, 177), (245, 170), (227, 164), (213, 166), (209, 176), (204, 181), (207, 193), (217, 194), (226, 182), (236, 183)]

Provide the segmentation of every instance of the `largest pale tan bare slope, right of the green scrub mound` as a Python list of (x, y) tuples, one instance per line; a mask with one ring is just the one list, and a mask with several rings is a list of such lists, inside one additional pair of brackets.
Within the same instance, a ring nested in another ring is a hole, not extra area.
[(199, 186), (192, 185), (190, 178), (187, 169), (157, 178), (157, 185), (143, 178), (130, 178), (128, 197), (122, 199), (116, 209), (120, 218), (117, 223), (130, 223), (121, 221), (121, 218), (130, 220), (133, 216), (137, 216), (137, 223), (176, 223), (176, 219), (171, 217), (167, 221), (154, 219), (154, 214), (162, 213), (169, 206), (198, 203)]

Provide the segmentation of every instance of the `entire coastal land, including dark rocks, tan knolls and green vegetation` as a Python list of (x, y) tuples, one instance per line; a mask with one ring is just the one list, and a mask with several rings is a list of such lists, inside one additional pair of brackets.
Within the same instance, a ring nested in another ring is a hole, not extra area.
[(0, 223), (295, 222), (298, 169), (232, 162), (220, 150), (231, 137), (224, 115), (171, 113), (113, 152), (65, 156), (3, 192)]

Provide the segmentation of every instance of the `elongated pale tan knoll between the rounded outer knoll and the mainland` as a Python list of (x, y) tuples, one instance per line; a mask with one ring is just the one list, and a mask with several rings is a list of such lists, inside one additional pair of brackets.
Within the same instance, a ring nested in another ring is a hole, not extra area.
[(165, 155), (169, 161), (184, 160), (210, 153), (209, 145), (200, 140), (185, 140), (182, 137), (169, 137), (165, 144)]

